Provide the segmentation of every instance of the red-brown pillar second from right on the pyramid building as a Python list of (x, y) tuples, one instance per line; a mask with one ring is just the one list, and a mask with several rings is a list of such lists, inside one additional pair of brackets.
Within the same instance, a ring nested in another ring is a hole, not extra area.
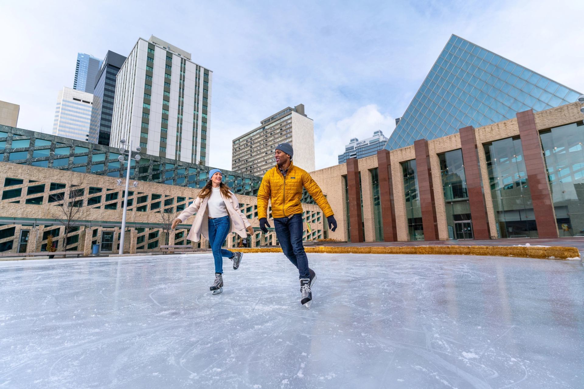
[(489, 222), (486, 216), (485, 197), (481, 186), (481, 169), (477, 154), (477, 136), (472, 126), (459, 130), (463, 152), (464, 176), (467, 180), (468, 203), (471, 207), (474, 239), (489, 239)]

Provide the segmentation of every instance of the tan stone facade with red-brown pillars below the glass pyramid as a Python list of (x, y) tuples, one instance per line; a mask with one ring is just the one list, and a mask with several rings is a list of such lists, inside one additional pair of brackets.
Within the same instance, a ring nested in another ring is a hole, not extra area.
[[(474, 227), (474, 239), (488, 239), (497, 236), (495, 212), (493, 209), (493, 200), (491, 197), (491, 185), (489, 184), (489, 173), (485, 156), (485, 143), (497, 141), (510, 137), (522, 139), (523, 153), (527, 163), (527, 173), (530, 181), (530, 190), (533, 197), (534, 208), (536, 211), (536, 222), (540, 237), (557, 237), (558, 230), (555, 227), (554, 207), (551, 203), (550, 189), (545, 172), (545, 163), (542, 157), (541, 141), (538, 133), (552, 127), (559, 127), (566, 124), (582, 122), (583, 115), (580, 113), (580, 104), (572, 103), (551, 108), (549, 110), (533, 113), (526, 111), (518, 113), (518, 119), (506, 120), (491, 124), (485, 127), (461, 129), (461, 134), (444, 136), (443, 138), (427, 141), (427, 150), (429, 158), (429, 170), (433, 181), (432, 194), (434, 198), (433, 210), (436, 215), (437, 236), (435, 239), (449, 239), (448, 226), (446, 220), (446, 208), (444, 204), (444, 192), (442, 187), (442, 177), (440, 173), (439, 155), (450, 150), (462, 149), (465, 162), (465, 176), (467, 177), (467, 186), (469, 191), (469, 202), (471, 205), (472, 225)], [(523, 124), (522, 124), (523, 123)], [(524, 126), (524, 131), (520, 127)], [(530, 134), (530, 135), (529, 135)], [(464, 143), (464, 144), (463, 144)], [(391, 183), (393, 204), (392, 212), (387, 211), (388, 194), (383, 191), (383, 180), (380, 176), (380, 193), (381, 201), (384, 203), (384, 227), (385, 220), (395, 218), (395, 236), (398, 241), (408, 241), (408, 221), (405, 213), (405, 196), (404, 180), (401, 163), (408, 160), (416, 159), (415, 147), (407, 146), (405, 148), (391, 150), (389, 158), (384, 155), (383, 164), (387, 166), (387, 161), (391, 167)], [(365, 241), (374, 241), (373, 233), (373, 209), (371, 199), (371, 175), (370, 170), (378, 167), (379, 161), (382, 160), (379, 155), (360, 159), (356, 164), (361, 173), (361, 191), (363, 193), (363, 223), (365, 229)], [(468, 162), (467, 162), (468, 160)], [(529, 162), (527, 162), (529, 160)], [(356, 161), (355, 161), (356, 162)], [(536, 163), (537, 162), (537, 163)], [(338, 166), (328, 167), (311, 173), (312, 177), (321, 186), (323, 192), (327, 195), (329, 202), (335, 212), (335, 218), (339, 223), (339, 229), (335, 233), (329, 233), (329, 236), (339, 240), (347, 240), (347, 208), (345, 194), (345, 179), (347, 176), (347, 164), (354, 164), (352, 161), (339, 164)], [(584, 161), (582, 161), (584, 163)], [(468, 166), (470, 165), (470, 166)], [(382, 166), (383, 167), (383, 166)], [(354, 180), (353, 180), (354, 181)], [(350, 182), (350, 180), (349, 180)], [(349, 188), (349, 192), (350, 192)], [(429, 193), (426, 193), (429, 195)], [(429, 196), (428, 196), (429, 197)], [(432, 201), (432, 198), (430, 201)], [(390, 201), (391, 203), (391, 201)], [(356, 214), (358, 206), (350, 207), (350, 219), (353, 222), (353, 213)], [(383, 207), (382, 207), (383, 209)], [(360, 209), (359, 209), (360, 211)], [(425, 239), (426, 237), (426, 226)], [(343, 228), (344, 230), (341, 230)], [(389, 235), (385, 234), (385, 240), (391, 240), (393, 232), (390, 230)]]

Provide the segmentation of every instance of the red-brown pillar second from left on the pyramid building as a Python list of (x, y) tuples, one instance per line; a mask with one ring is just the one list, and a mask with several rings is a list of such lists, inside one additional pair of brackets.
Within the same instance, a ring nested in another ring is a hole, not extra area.
[(383, 240), (395, 242), (398, 240), (398, 234), (395, 229), (394, 185), (391, 182), (391, 161), (388, 150), (384, 149), (377, 152), (377, 166), (381, 217), (383, 219)]

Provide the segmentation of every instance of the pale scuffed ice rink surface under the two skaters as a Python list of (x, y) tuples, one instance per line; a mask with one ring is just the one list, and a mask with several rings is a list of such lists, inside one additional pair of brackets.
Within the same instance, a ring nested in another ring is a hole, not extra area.
[(0, 388), (583, 388), (584, 268), (283, 254), (0, 262)]

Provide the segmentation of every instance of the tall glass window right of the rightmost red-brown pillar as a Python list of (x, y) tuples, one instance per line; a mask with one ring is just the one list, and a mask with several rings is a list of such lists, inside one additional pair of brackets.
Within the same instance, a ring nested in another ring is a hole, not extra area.
[(560, 237), (584, 236), (584, 124), (540, 134)]

